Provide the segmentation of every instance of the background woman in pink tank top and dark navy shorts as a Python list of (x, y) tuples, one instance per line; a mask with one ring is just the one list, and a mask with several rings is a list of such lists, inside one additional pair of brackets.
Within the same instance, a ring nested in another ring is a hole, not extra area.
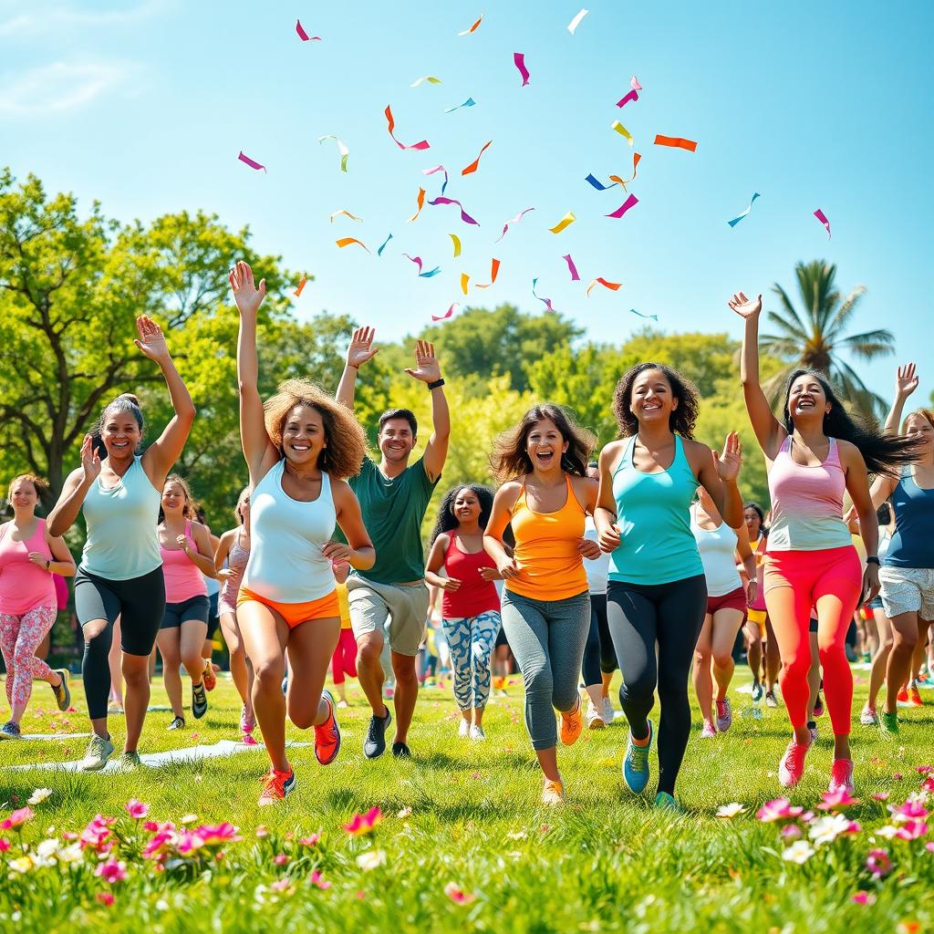
[(205, 661), (201, 655), (207, 635), (207, 586), (202, 574), (214, 576), (210, 536), (196, 513), (191, 489), (178, 474), (169, 474), (163, 486), (159, 523), (159, 551), (165, 578), (165, 613), (156, 637), (163, 657), (163, 684), (172, 705), (168, 729), (185, 729), (181, 701), (184, 665), (191, 676), (191, 713), (200, 719), (207, 710)]

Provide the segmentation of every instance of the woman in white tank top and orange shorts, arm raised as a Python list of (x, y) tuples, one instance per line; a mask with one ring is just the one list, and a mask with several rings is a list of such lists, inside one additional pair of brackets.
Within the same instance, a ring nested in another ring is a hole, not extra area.
[[(240, 312), (237, 378), (240, 439), (249, 468), (247, 570), (237, 597), (237, 621), (253, 664), (253, 710), (272, 764), (261, 805), (295, 788), (286, 757), (285, 718), (315, 728), (315, 757), (329, 765), (341, 734), (331, 692), (324, 689), (340, 635), (333, 562), (370, 568), (375, 550), (347, 477), (360, 470), (363, 430), (345, 406), (304, 379), (290, 379), (265, 404), (257, 389), (256, 315), (266, 280), (254, 285), (248, 263), (231, 270)], [(347, 545), (333, 542), (335, 525)], [(289, 687), (282, 696), (285, 653)]]

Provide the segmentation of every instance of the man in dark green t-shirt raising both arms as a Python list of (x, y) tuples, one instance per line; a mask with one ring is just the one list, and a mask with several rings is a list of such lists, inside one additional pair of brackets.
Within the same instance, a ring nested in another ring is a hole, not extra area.
[[(353, 408), (357, 371), (378, 350), (374, 337), (373, 328), (357, 328), (347, 347), (347, 365), (337, 387), (337, 400), (347, 408)], [(373, 709), (363, 741), (363, 754), (367, 758), (381, 756), (386, 750), (386, 729), (392, 722), (389, 708), (383, 702), (383, 668), (379, 660), (388, 619), (392, 672), (396, 678), (392, 755), (411, 755), (406, 741), (418, 696), (415, 659), (428, 616), (421, 521), (441, 479), (450, 435), (447, 400), (442, 389), (445, 381), (434, 358), (434, 345), (418, 341), (415, 361), (416, 368), (405, 372), (427, 383), (432, 393), (432, 437), (425, 453), (415, 463), (409, 463), (417, 440), (416, 417), (408, 409), (389, 409), (379, 418), (379, 463), (364, 458), (360, 474), (350, 478), (350, 486), (360, 500), (363, 524), (376, 549), (374, 566), (365, 573), (354, 571), (347, 578), (350, 623), (357, 640), (357, 672)]]

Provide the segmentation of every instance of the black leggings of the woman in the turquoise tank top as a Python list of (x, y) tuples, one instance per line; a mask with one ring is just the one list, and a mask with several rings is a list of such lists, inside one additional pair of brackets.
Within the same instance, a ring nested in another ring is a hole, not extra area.
[(658, 791), (670, 795), (691, 732), (687, 675), (706, 611), (703, 574), (671, 584), (610, 581), (607, 591), (607, 619), (623, 672), (619, 702), (633, 738), (643, 740), (658, 685)]

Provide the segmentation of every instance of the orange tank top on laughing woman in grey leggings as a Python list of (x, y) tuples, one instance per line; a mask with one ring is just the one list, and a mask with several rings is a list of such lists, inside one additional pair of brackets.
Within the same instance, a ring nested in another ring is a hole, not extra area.
[(528, 502), (525, 483), (512, 510), (518, 577), (505, 588), (533, 600), (566, 600), (587, 592), (584, 559), (577, 545), (584, 537), (584, 507), (565, 474), (567, 499), (554, 513), (537, 513)]

